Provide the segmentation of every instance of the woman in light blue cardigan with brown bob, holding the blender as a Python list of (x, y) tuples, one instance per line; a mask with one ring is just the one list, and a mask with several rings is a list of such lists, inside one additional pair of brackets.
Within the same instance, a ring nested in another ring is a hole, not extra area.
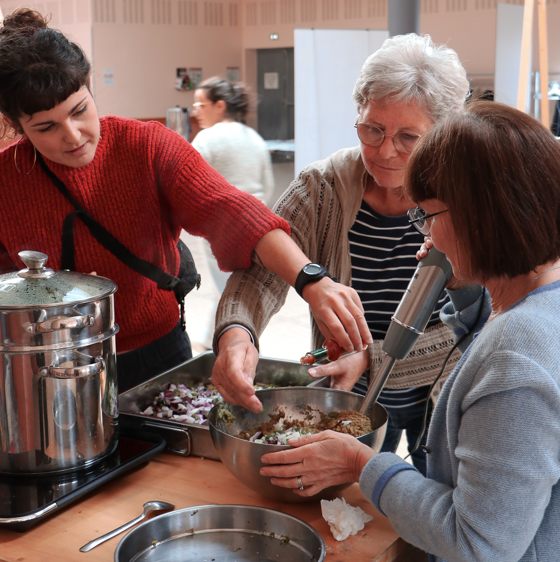
[(330, 431), (263, 456), (277, 465), (261, 474), (302, 496), (359, 482), (432, 560), (558, 560), (560, 144), (472, 102), (418, 142), (404, 189), (425, 214), (419, 259), (433, 244), (453, 266), (441, 319), (469, 334), (432, 415), (427, 477)]

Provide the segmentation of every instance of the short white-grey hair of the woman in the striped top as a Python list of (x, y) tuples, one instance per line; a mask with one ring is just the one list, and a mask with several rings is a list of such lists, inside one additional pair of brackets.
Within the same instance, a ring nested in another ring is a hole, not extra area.
[(417, 103), (434, 121), (459, 111), (469, 90), (457, 53), (430, 35), (395, 35), (370, 55), (359, 72), (352, 99), (358, 112), (368, 101), (388, 98)]

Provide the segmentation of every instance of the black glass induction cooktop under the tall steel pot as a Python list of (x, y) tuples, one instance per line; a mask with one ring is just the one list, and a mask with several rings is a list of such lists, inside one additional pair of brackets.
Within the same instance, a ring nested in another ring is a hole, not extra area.
[(43, 476), (0, 474), (0, 529), (27, 531), (85, 493), (145, 463), (164, 447), (161, 437), (145, 441), (121, 434), (111, 455), (83, 470)]

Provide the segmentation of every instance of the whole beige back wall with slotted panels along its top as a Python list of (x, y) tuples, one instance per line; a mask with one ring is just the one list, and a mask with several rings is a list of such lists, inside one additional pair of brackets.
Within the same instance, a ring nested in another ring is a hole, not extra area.
[[(496, 0), (421, 0), (420, 28), (456, 49), (475, 84), (493, 81)], [(511, 0), (522, 3), (522, 0)], [(52, 13), (52, 25), (80, 43), (94, 63), (100, 114), (157, 117), (188, 106), (174, 89), (177, 67), (202, 67), (203, 79), (239, 66), (254, 88), (256, 49), (292, 47), (293, 29), (385, 29), (387, 0), (51, 0), (27, 3)], [(0, 0), (4, 13), (17, 5)], [(549, 71), (560, 78), (560, 0), (547, 0)], [(271, 40), (270, 34), (278, 35)], [(536, 50), (535, 50), (536, 52)], [(536, 61), (535, 61), (536, 62)], [(115, 85), (103, 85), (103, 70)], [(249, 115), (254, 124), (254, 115)]]

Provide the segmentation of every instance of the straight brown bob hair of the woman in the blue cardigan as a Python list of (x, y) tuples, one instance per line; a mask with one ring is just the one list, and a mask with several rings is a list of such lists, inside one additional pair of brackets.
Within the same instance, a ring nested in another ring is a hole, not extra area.
[(528, 274), (560, 257), (560, 143), (521, 111), (467, 103), (417, 143), (403, 189), (447, 206), (475, 279)]

